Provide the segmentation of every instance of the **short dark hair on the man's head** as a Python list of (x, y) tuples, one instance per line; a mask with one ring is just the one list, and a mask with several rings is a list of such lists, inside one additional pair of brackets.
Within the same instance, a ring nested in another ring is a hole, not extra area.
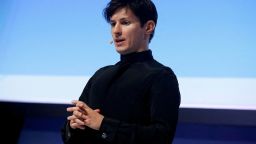
[[(141, 27), (149, 20), (153, 20), (157, 24), (157, 10), (151, 0), (111, 0), (103, 10), (106, 21), (109, 23), (116, 10), (124, 7), (129, 8), (138, 17)], [(149, 42), (154, 36), (154, 31), (150, 35)]]

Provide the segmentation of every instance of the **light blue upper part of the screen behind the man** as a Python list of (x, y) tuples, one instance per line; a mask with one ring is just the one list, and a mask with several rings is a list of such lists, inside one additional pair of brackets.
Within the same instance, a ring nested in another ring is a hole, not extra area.
[[(1, 0), (0, 74), (92, 75), (119, 55), (108, 1)], [(161, 0), (154, 56), (185, 77), (256, 77), (255, 0)]]

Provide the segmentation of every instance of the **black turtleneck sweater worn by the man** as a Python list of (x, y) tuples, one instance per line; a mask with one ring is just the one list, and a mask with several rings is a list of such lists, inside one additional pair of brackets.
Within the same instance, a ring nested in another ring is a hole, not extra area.
[(99, 69), (79, 100), (104, 115), (99, 131), (73, 130), (69, 144), (170, 144), (175, 135), (180, 92), (173, 71), (153, 59), (151, 50), (121, 55), (115, 65)]

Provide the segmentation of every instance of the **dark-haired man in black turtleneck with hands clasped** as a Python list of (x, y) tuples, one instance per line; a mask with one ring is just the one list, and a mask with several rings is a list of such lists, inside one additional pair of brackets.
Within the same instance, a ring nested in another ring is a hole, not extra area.
[(173, 71), (148, 45), (157, 23), (150, 0), (112, 0), (104, 9), (120, 61), (96, 71), (62, 130), (67, 144), (170, 144), (180, 92)]

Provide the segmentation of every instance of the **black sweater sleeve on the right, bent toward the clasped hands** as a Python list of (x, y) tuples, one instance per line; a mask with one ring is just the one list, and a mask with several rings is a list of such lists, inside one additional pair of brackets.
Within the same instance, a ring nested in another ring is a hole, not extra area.
[(170, 144), (180, 105), (176, 76), (171, 70), (161, 71), (149, 91), (150, 123), (132, 124), (105, 117), (100, 128), (103, 139), (118, 144)]

